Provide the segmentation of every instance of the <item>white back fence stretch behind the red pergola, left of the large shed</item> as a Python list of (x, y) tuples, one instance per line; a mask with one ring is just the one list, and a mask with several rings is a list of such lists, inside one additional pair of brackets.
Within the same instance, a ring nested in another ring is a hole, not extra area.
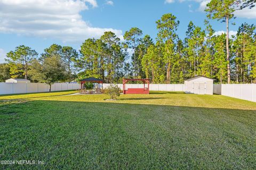
[[(103, 84), (103, 88), (108, 87), (110, 84)], [(117, 84), (123, 90), (123, 84)], [(147, 87), (147, 85), (145, 85)], [(127, 88), (143, 88), (143, 84), (125, 84)], [(150, 84), (149, 91), (170, 91), (170, 92), (184, 92), (186, 87), (184, 84)]]

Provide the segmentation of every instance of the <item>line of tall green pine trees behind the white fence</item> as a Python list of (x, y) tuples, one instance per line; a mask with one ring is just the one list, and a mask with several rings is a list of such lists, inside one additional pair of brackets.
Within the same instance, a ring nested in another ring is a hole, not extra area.
[(7, 53), (7, 63), (0, 65), (0, 79), (28, 78), (53, 84), (86, 77), (102, 78), (106, 83), (150, 78), (152, 83), (178, 84), (200, 75), (217, 83), (256, 83), (255, 26), (243, 23), (235, 36), (229, 36), (234, 12), (252, 8), (254, 2), (212, 0), (207, 4), (207, 18), (226, 22), (226, 34), (221, 35), (215, 34), (209, 20), (204, 21), (205, 28), (190, 21), (181, 39), (177, 34), (180, 21), (167, 13), (156, 21), (156, 41), (139, 28), (131, 28), (124, 41), (108, 31), (98, 39), (86, 39), (79, 52), (53, 44), (38, 56), (21, 45)]

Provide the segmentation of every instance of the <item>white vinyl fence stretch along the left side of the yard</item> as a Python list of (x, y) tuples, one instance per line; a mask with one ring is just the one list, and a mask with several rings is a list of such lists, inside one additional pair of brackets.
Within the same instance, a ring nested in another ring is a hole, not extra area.
[[(77, 83), (55, 83), (51, 91), (77, 90), (81, 85)], [(0, 83), (0, 94), (39, 93), (49, 92), (50, 86), (44, 83)]]

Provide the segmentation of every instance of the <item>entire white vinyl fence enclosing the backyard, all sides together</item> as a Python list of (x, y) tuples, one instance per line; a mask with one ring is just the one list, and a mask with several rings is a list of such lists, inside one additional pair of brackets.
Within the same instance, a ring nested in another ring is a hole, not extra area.
[[(110, 84), (103, 84), (103, 88)], [(123, 84), (117, 84), (123, 90)], [(146, 85), (147, 86), (147, 85)], [(101, 87), (101, 84), (100, 84)], [(126, 84), (126, 88), (143, 88), (143, 84)], [(51, 91), (78, 90), (79, 83), (55, 83)], [(184, 92), (184, 84), (150, 84), (150, 91)], [(0, 94), (49, 92), (49, 85), (44, 83), (0, 83)], [(214, 84), (213, 93), (232, 98), (256, 102), (256, 84)]]

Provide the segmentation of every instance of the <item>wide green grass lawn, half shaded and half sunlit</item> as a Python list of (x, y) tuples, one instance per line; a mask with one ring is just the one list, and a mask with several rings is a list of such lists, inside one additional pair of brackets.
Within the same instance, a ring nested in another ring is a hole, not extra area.
[[(151, 92), (2, 95), (2, 169), (256, 169), (256, 103)], [(21, 100), (14, 100), (21, 99)]]

